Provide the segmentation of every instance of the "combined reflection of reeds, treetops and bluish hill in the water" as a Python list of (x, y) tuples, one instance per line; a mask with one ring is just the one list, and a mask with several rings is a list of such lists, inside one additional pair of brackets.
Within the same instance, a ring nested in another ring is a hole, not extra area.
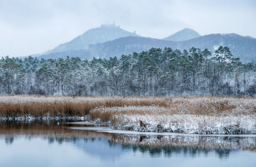
[(119, 157), (127, 151), (149, 154), (151, 157), (198, 157), (200, 154), (207, 156), (210, 152), (215, 152), (219, 158), (227, 158), (230, 153), (237, 151), (256, 152), (256, 137), (127, 135), (69, 129), (95, 125), (65, 124), (66, 122), (69, 121), (0, 121), (0, 139), (5, 139), (6, 145), (12, 145), (20, 137), (27, 140), (42, 138), (48, 140), (50, 145), (70, 143), (87, 154), (101, 158)]

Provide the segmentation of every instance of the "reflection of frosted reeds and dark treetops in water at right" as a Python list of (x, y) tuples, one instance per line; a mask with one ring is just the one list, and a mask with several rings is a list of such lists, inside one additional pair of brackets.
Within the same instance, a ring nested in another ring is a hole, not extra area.
[[(215, 151), (219, 157), (227, 157), (239, 149), (256, 151), (255, 137), (214, 137), (214, 136), (129, 136), (115, 134), (113, 144), (121, 144), (126, 149), (149, 153), (152, 156), (183, 154), (196, 157)], [(117, 137), (119, 136), (119, 137)]]

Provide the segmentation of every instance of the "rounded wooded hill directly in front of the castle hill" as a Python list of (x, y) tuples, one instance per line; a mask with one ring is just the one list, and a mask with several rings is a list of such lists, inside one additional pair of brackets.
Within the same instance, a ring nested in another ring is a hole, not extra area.
[(80, 57), (82, 60), (92, 60), (93, 57), (106, 58), (121, 57), (122, 54), (132, 54), (133, 52), (141, 52), (151, 47), (164, 48), (164, 46), (175, 46), (176, 42), (146, 37), (122, 37), (106, 43), (90, 45), (89, 49), (81, 49), (79, 51), (66, 51), (61, 53), (51, 53), (42, 55), (37, 59), (65, 59), (69, 57)]

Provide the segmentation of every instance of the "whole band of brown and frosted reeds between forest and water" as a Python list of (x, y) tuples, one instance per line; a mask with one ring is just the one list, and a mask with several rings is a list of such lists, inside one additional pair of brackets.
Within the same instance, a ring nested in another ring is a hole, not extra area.
[(256, 99), (235, 97), (0, 96), (0, 118), (81, 118), (114, 129), (256, 133)]

